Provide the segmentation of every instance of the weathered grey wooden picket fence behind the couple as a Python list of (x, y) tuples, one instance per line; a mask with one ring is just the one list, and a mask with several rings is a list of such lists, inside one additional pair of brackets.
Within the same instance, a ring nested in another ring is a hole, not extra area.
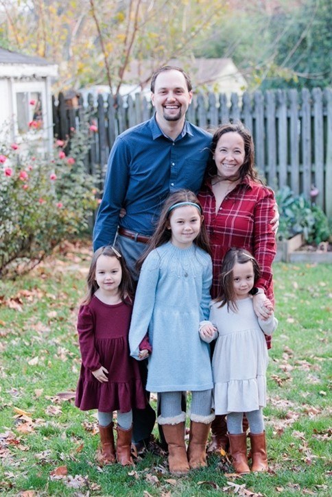
[[(60, 93), (54, 99), (54, 134), (70, 136), (71, 128), (79, 128), (84, 114), (97, 125), (89, 156), (88, 168), (105, 171), (110, 148), (118, 134), (133, 125), (150, 119), (154, 109), (150, 101), (137, 94), (123, 100), (102, 95), (94, 103), (88, 95), (84, 108), (82, 97), (72, 108)], [(213, 132), (220, 123), (241, 120), (254, 137), (256, 165), (267, 183), (277, 191), (288, 185), (295, 195), (310, 199), (316, 186), (316, 204), (332, 217), (332, 88), (311, 92), (268, 90), (244, 93), (240, 98), (199, 93), (187, 112), (192, 123)], [(330, 191), (330, 193), (328, 193)]]

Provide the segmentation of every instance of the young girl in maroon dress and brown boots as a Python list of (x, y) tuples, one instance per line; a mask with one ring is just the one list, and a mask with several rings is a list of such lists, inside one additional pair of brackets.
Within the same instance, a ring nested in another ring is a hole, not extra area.
[[(130, 357), (128, 332), (132, 315), (132, 278), (115, 248), (99, 248), (87, 278), (88, 291), (78, 313), (82, 367), (75, 405), (98, 410), (101, 448), (99, 464), (132, 464), (132, 407), (146, 400), (139, 365)], [(145, 349), (150, 350), (149, 343)], [(113, 435), (117, 411), (117, 450)]]

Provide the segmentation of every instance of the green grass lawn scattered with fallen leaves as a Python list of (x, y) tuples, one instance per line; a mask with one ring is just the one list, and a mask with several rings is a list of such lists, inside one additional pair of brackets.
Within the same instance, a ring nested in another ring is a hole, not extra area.
[(270, 471), (239, 478), (225, 457), (213, 456), (208, 468), (175, 478), (160, 452), (147, 453), (135, 468), (95, 463), (95, 411), (79, 411), (70, 395), (80, 369), (75, 320), (90, 255), (68, 244), (32, 274), (1, 282), (0, 492), (331, 495), (331, 266), (274, 266), (279, 326), (264, 410)]

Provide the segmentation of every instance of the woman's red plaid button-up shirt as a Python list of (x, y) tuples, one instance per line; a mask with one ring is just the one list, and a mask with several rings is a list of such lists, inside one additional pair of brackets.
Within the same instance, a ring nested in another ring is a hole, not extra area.
[[(228, 193), (215, 213), (215, 196), (211, 180), (207, 180), (198, 195), (202, 204), (212, 250), (212, 298), (217, 296), (218, 276), (222, 260), (230, 247), (248, 250), (258, 261), (261, 278), (255, 283), (274, 302), (272, 262), (276, 255), (276, 237), (270, 221), (274, 217), (274, 193), (260, 183), (245, 178)], [(268, 342), (268, 348), (269, 347)]]

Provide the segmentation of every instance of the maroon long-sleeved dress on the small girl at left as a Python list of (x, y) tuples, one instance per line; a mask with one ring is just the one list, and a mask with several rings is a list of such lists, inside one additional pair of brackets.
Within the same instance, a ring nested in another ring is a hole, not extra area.
[[(131, 315), (129, 301), (109, 305), (95, 295), (89, 304), (80, 307), (78, 335), (82, 366), (75, 406), (82, 411), (126, 413), (134, 407), (145, 408), (139, 364), (130, 357), (128, 347)], [(101, 366), (108, 370), (108, 383), (100, 383), (91, 373)]]

